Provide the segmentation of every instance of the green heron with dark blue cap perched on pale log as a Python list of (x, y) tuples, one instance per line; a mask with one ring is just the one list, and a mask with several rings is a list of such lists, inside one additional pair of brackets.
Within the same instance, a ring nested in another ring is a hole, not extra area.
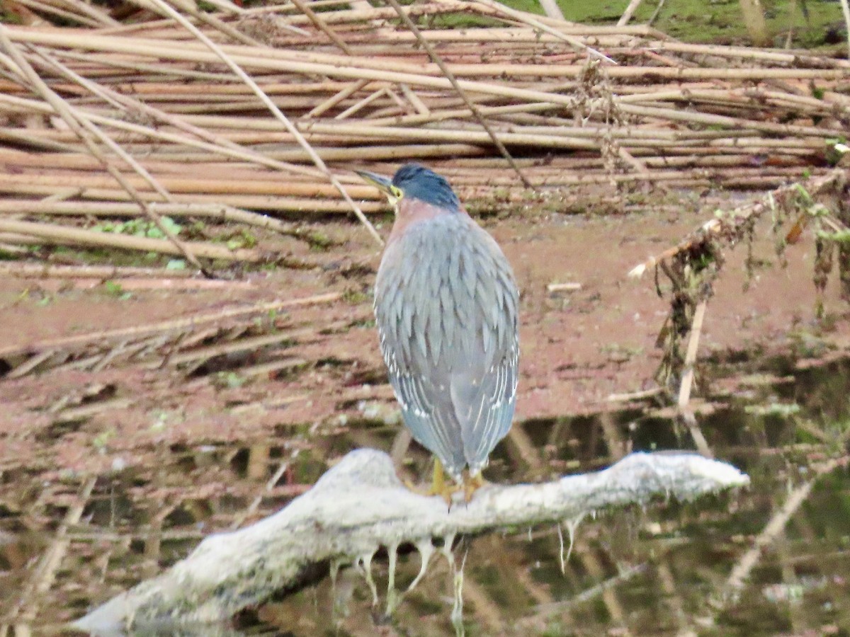
[(360, 172), (387, 195), (395, 222), (375, 283), (375, 317), (405, 426), (467, 499), (513, 421), (519, 293), (490, 234), (445, 178), (418, 164), (392, 179)]

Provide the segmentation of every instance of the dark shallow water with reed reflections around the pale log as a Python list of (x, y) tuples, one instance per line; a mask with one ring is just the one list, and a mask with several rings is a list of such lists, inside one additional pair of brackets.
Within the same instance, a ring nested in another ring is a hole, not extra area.
[[(698, 421), (717, 459), (749, 473), (751, 488), (588, 517), (563, 574), (554, 527), (462, 539), (456, 555), (466, 559), (467, 635), (848, 634), (846, 464), (814, 482), (740, 596), (723, 594), (729, 573), (790, 493), (813, 479), (819, 462), (847, 454), (850, 359), (801, 369), (776, 358), (767, 368), (743, 368), (709, 369), (717, 379), (733, 369), (739, 380), (741, 372), (757, 373), (734, 392), (717, 390)], [(492, 459), (494, 482), (594, 471), (632, 450), (693, 448), (667, 410), (650, 403), (515, 428)], [(208, 533), (280, 509), (351, 448), (389, 451), (397, 431), (377, 419), (335, 431), (281, 427), (262, 443), (154, 448), (141, 465), (116, 458), (113, 471), (96, 479), (38, 464), (7, 466), (0, 473), (0, 634), (58, 632), (172, 565)], [(428, 455), (411, 448), (406, 458), (409, 477), (424, 481)], [(418, 556), (400, 562), (404, 586)], [(381, 589), (384, 560), (376, 575)], [(322, 578), (196, 634), (453, 634), (451, 603), (445, 561), (433, 562), (392, 621), (376, 617), (365, 583), (349, 570), (336, 589)]]

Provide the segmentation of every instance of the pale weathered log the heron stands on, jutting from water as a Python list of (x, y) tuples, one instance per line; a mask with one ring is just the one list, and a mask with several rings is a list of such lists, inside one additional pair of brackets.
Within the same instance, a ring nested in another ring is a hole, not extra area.
[[(632, 454), (596, 473), (543, 484), (488, 485), (470, 503), (449, 508), (439, 497), (405, 488), (387, 454), (359, 449), (275, 515), (211, 535), (167, 572), (107, 601), (75, 627), (105, 634), (155, 624), (217, 622), (281, 589), (297, 588), (322, 564), (330, 564), (331, 572), (360, 566), (377, 595), (371, 557), (385, 547), (394, 561), (402, 544), (412, 544), (422, 556), (412, 588), (426, 572), (434, 539), (453, 563), (451, 541), (458, 534), (561, 523), (587, 511), (644, 504), (658, 496), (690, 500), (748, 483), (748, 476), (733, 466), (697, 454)], [(400, 600), (393, 582), (391, 575), (388, 612)]]

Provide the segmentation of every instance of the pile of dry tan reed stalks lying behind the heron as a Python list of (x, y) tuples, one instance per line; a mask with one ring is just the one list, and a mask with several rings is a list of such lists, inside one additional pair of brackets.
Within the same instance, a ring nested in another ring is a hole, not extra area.
[[(161, 217), (289, 232), (267, 215), (354, 211), (369, 226), (383, 203), (350, 169), (410, 160), (467, 201), (770, 189), (828, 169), (828, 140), (850, 127), (845, 59), (492, 0), (212, 5), (19, 0), (29, 25), (0, 25), (0, 244), (257, 261), (180, 240)], [(164, 238), (85, 227), (134, 216)]]

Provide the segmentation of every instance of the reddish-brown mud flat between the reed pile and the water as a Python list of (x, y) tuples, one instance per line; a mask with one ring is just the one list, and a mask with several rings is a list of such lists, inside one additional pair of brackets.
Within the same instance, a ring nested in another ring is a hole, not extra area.
[[(655, 386), (655, 340), (668, 305), (656, 294), (651, 272), (640, 280), (626, 273), (676, 244), (717, 205), (685, 198), (681, 208), (615, 217), (529, 213), (482, 222), (513, 263), (521, 289), (519, 421), (609, 410), (620, 406), (609, 401), (612, 394)], [(773, 237), (768, 228), (758, 229), (754, 251), (763, 265), (748, 277), (745, 247), (728, 252), (698, 360), (780, 352), (817, 358), (846, 349), (847, 307), (835, 280), (825, 294), (827, 318), (815, 319), (811, 238), (790, 245), (787, 267), (779, 268)], [(394, 422), (397, 410), (371, 321), (380, 254), (358, 226), (338, 223), (322, 231), (342, 245), (323, 252), (287, 244), (293, 258), (314, 268), (249, 273), (220, 289), (115, 294), (98, 281), (0, 279), (0, 348), (240, 304), (343, 293), (337, 302), (256, 318), (260, 332), (290, 330), (292, 339), (212, 358), (188, 375), (163, 360), (99, 371), (60, 367), (4, 380), (3, 469), (28, 465), (37, 454), (44, 469), (97, 472), (116, 454), (141, 461), (138, 454), (152, 443), (262, 441), (290, 428)], [(263, 245), (277, 247), (274, 242), (263, 237)], [(558, 283), (581, 287), (547, 289)], [(269, 361), (267, 371), (257, 367)], [(91, 409), (58, 417), (86, 406)]]

